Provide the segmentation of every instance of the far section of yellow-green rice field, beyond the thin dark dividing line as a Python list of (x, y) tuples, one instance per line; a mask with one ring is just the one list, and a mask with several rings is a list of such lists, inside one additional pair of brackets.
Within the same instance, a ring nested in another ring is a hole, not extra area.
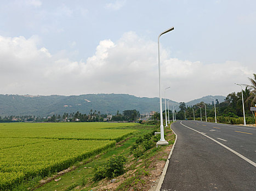
[(116, 128), (129, 126), (134, 123), (0, 123), (0, 138), (120, 141), (134, 130)]

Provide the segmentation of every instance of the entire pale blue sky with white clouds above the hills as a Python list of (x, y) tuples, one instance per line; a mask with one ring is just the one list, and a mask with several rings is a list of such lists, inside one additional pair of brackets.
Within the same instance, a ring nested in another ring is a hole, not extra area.
[(256, 73), (256, 1), (0, 2), (0, 94), (125, 93), (176, 102)]

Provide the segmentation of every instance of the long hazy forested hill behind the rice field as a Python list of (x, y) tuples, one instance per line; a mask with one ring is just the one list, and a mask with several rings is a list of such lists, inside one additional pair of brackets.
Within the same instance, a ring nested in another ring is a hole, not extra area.
[[(200, 103), (200, 99), (197, 100)], [(177, 104), (170, 101), (169, 105)], [(116, 114), (117, 110), (138, 110), (141, 114), (159, 111), (159, 98), (140, 98), (129, 94), (84, 94), (80, 96), (19, 96), (0, 94), (0, 116), (47, 116), (90, 110)], [(164, 109), (164, 108), (163, 108)]]

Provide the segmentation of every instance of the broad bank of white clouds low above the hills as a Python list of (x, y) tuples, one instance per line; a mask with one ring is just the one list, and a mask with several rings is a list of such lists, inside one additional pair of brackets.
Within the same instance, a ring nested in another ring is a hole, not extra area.
[[(116, 42), (102, 40), (86, 62), (71, 61), (66, 53), (52, 55), (37, 47), (33, 37), (0, 36), (0, 94), (129, 93), (158, 96), (157, 43), (134, 32)], [(162, 87), (167, 97), (181, 102), (208, 94), (239, 91), (234, 83), (249, 83), (255, 70), (241, 63), (203, 64), (171, 58), (161, 49)]]

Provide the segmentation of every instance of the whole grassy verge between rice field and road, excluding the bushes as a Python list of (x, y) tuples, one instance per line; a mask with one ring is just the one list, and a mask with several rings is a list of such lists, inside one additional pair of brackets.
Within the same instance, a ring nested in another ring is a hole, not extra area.
[[(38, 182), (42, 177), (36, 177), (33, 178), (33, 180), (21, 183), (20, 187), (14, 190), (145, 190), (144, 187), (146, 184), (155, 176), (152, 174), (153, 171), (157, 170), (155, 163), (165, 163), (168, 153), (164, 153), (163, 151), (167, 150), (167, 147), (170, 148), (170, 145), (172, 145), (175, 140), (175, 135), (170, 128), (164, 128), (165, 139), (169, 141), (169, 145), (152, 147), (147, 150), (143, 156), (135, 158), (133, 154), (130, 153), (130, 147), (135, 144), (139, 136), (159, 130), (158, 128), (156, 129), (155, 125), (141, 124), (135, 127), (122, 127), (121, 129), (123, 128), (136, 129), (136, 132), (129, 135), (126, 140), (118, 142), (115, 147), (108, 148), (96, 156), (82, 160), (82, 162), (77, 162), (73, 165), (76, 166), (75, 170), (59, 176), (58, 178), (61, 179), (58, 182), (52, 180), (40, 185)], [(126, 157), (128, 161), (124, 175), (116, 177), (116, 182), (113, 183), (116, 184), (116, 186), (106, 189), (105, 186), (110, 185), (110, 180), (107, 178), (94, 182), (93, 176), (95, 168), (103, 166), (109, 158), (118, 155)], [(56, 174), (49, 175), (48, 177), (54, 175)]]

